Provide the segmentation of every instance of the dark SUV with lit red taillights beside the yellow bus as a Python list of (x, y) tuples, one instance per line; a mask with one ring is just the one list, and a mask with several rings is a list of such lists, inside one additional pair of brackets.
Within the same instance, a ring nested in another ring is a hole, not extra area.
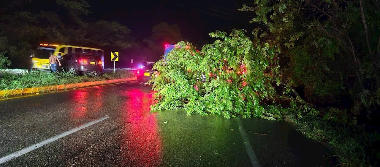
[(60, 58), (61, 70), (74, 71), (81, 74), (98, 75), (103, 72), (103, 62), (96, 53), (74, 52)]

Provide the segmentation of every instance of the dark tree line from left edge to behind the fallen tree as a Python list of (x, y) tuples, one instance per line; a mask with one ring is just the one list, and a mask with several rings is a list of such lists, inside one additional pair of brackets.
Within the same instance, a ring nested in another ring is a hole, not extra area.
[(163, 42), (182, 40), (179, 27), (168, 23), (155, 25), (151, 36), (136, 42), (131, 31), (119, 22), (87, 22), (84, 18), (91, 14), (87, 0), (14, 0), (0, 5), (0, 69), (9, 67), (11, 61), (17, 61), (13, 67), (24, 67), (27, 55), (41, 42), (129, 48), (130, 53), (143, 50), (139, 59), (152, 61), (163, 55)]

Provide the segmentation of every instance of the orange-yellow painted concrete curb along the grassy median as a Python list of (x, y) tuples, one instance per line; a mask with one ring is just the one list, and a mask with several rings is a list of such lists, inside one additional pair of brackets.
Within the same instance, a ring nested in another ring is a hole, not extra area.
[(92, 81), (92, 82), (82, 82), (82, 83), (73, 83), (73, 84), (65, 84), (65, 85), (30, 87), (30, 88), (23, 88), (23, 89), (9, 89), (9, 90), (0, 91), (0, 98), (8, 97), (8, 96), (16, 96), (16, 95), (49, 92), (49, 91), (58, 91), (62, 89), (71, 89), (71, 88), (77, 88), (77, 87), (94, 86), (94, 85), (100, 85), (100, 84), (122, 83), (122, 82), (127, 82), (127, 81), (134, 81), (134, 80), (137, 80), (137, 78), (132, 77), (132, 78), (117, 79), (117, 80)]

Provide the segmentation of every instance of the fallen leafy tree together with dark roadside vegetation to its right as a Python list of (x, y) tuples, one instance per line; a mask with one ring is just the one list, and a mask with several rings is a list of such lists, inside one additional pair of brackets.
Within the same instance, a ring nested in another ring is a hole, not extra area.
[(200, 52), (179, 42), (158, 61), (152, 110), (294, 123), (340, 166), (378, 166), (380, 2), (256, 0), (260, 26), (211, 33)]

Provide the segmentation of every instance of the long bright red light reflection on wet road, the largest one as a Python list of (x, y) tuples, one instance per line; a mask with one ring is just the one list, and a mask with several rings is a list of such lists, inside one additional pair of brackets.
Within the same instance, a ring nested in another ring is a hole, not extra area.
[(127, 91), (125, 102), (125, 125), (123, 133), (123, 155), (126, 166), (157, 166), (161, 163), (161, 139), (158, 133), (156, 116), (150, 114), (152, 94), (145, 94), (139, 89)]

